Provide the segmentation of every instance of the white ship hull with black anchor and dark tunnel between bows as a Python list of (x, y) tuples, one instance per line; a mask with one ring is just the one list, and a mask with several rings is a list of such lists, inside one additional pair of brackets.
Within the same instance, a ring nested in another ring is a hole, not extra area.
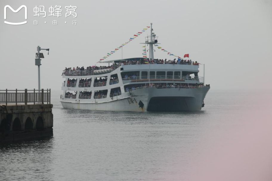
[(200, 111), (208, 87), (200, 88), (140, 88), (122, 93), (104, 102), (61, 99), (67, 109), (101, 111)]

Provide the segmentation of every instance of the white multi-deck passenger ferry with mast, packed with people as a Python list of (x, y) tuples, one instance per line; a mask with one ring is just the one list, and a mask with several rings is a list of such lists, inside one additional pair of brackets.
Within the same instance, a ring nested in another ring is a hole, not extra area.
[(154, 59), (157, 37), (146, 38), (143, 58), (104, 61), (111, 66), (65, 69), (61, 104), (68, 109), (106, 111), (199, 111), (210, 86), (198, 63)]

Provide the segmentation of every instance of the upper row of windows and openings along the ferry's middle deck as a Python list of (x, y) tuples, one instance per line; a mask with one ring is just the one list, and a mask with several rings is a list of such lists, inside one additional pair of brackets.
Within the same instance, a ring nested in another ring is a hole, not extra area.
[[(133, 80), (133, 79), (180, 79), (181, 77), (185, 77), (186, 75), (194, 74), (194, 76), (197, 76), (197, 72), (186, 72), (182, 71), (182, 74), (180, 71), (129, 71), (129, 72), (121, 72), (122, 80)], [(150, 76), (148, 76), (150, 75)], [(106, 82), (108, 80), (108, 76), (104, 77), (95, 77), (94, 80), (94, 87), (100, 87), (105, 86)], [(78, 87), (91, 87), (92, 78), (89, 79), (79, 79)], [(109, 85), (117, 84), (119, 83), (118, 75), (113, 74), (110, 77)], [(67, 87), (76, 87), (77, 79), (67, 79)], [(65, 81), (63, 83), (63, 86), (65, 86)]]

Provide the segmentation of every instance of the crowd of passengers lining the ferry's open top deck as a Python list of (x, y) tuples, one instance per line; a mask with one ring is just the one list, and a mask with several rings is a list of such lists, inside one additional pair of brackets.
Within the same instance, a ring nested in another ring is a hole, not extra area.
[[(167, 60), (167, 59), (152, 59), (149, 60), (147, 59), (148, 63), (150, 64), (183, 64), (183, 65), (199, 65), (199, 63), (197, 63), (197, 61), (192, 61), (192, 60), (183, 60), (181, 59), (180, 61), (174, 59), (174, 60)], [(124, 61), (120, 61), (119, 63), (113, 63), (111, 66), (89, 66), (87, 68), (84, 68), (84, 66), (82, 67), (73, 67), (73, 68), (67, 68), (65, 67), (65, 69), (63, 70), (63, 74), (77, 74), (77, 75), (81, 75), (79, 72), (81, 71), (86, 71), (86, 72), (91, 72), (93, 70), (103, 70), (103, 69), (115, 69), (117, 68), (119, 65), (135, 65), (135, 64), (146, 64), (146, 61), (141, 59), (141, 60), (124, 60)]]

